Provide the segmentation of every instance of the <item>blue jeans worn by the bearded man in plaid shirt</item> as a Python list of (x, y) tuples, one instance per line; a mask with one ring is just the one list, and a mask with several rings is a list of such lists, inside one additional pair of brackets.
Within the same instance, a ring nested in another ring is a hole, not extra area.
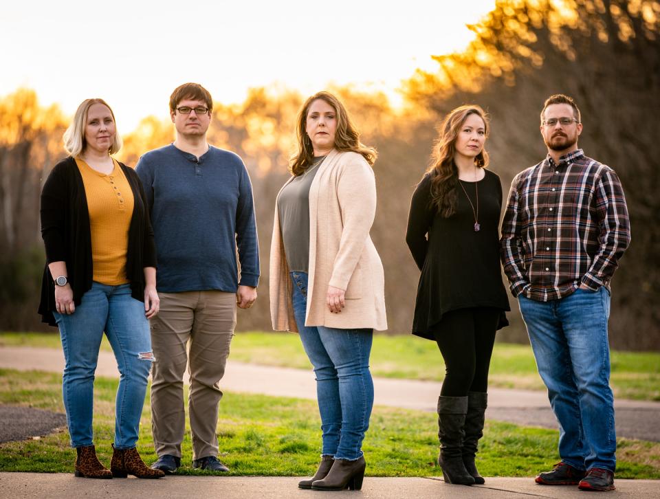
[(559, 455), (577, 469), (615, 471), (617, 440), (610, 390), (610, 294), (577, 289), (560, 300), (518, 296), (536, 366), (559, 421)]

